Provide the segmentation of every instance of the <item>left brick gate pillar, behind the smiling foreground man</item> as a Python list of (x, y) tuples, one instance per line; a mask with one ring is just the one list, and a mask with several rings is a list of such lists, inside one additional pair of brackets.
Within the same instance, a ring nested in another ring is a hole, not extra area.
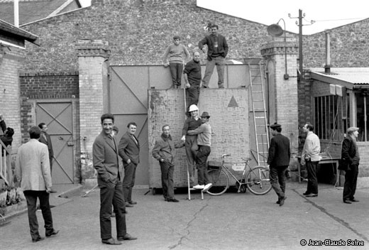
[(102, 40), (78, 40), (79, 124), (82, 183), (94, 178), (92, 144), (101, 132), (100, 116), (109, 112), (108, 67), (110, 50)]

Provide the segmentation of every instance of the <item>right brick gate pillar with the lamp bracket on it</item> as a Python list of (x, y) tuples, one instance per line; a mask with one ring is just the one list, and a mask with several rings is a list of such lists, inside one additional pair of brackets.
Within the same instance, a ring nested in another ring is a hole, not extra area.
[[(285, 48), (287, 48), (287, 74), (285, 79)], [(282, 134), (290, 138), (291, 151), (298, 149), (298, 93), (297, 55), (295, 38), (278, 37), (263, 45), (261, 55), (268, 72), (268, 111), (270, 124), (282, 125)]]

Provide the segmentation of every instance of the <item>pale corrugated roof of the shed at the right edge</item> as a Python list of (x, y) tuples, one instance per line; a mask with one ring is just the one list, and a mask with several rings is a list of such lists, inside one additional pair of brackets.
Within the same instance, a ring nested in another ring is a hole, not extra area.
[(312, 77), (328, 77), (352, 85), (369, 85), (369, 67), (331, 67), (331, 73), (324, 73), (324, 68), (310, 68)]

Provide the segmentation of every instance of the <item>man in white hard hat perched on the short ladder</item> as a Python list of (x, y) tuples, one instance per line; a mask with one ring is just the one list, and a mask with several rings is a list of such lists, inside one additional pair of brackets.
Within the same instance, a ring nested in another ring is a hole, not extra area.
[(189, 107), (189, 114), (190, 117), (184, 121), (181, 141), (186, 147), (189, 185), (192, 187), (194, 185), (194, 165), (199, 147), (197, 146), (197, 135), (189, 135), (187, 131), (197, 129), (201, 126), (202, 120), (199, 118), (199, 108), (195, 104)]

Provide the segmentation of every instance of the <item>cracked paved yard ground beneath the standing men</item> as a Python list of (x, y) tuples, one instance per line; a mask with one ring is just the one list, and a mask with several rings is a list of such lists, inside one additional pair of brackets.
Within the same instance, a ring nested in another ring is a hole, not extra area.
[[(101, 244), (99, 190), (68, 199), (53, 196), (53, 219), (60, 234), (32, 243), (27, 214), (11, 217), (0, 227), (1, 249), (369, 249), (369, 189), (357, 190), (360, 200), (342, 202), (342, 189), (319, 185), (319, 197), (305, 198), (306, 183), (288, 183), (283, 207), (275, 204), (274, 191), (257, 196), (227, 192), (219, 197), (177, 194), (179, 203), (164, 202), (161, 195), (134, 190), (138, 202), (128, 208), (128, 232), (136, 241), (120, 246)], [(65, 187), (64, 187), (65, 188)], [(43, 220), (38, 212), (40, 233)], [(114, 224), (114, 220), (112, 222)], [(114, 226), (113, 226), (114, 228)], [(115, 229), (114, 229), (115, 232)], [(302, 246), (310, 240), (340, 241), (346, 246)], [(357, 241), (355, 241), (357, 240)], [(348, 246), (363, 242), (364, 246)], [(5, 246), (5, 248), (4, 248)]]

